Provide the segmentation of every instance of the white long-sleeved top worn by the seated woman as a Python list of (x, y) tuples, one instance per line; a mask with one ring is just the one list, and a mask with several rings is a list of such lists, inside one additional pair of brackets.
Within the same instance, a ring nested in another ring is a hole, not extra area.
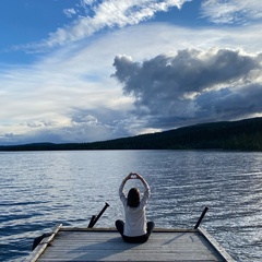
[(145, 205), (148, 202), (151, 190), (147, 182), (144, 181), (144, 195), (140, 201), (138, 207), (128, 206), (128, 199), (123, 191), (124, 182), (120, 184), (119, 196), (124, 207), (124, 228), (123, 235), (127, 237), (139, 237), (146, 234), (146, 216), (145, 216)]

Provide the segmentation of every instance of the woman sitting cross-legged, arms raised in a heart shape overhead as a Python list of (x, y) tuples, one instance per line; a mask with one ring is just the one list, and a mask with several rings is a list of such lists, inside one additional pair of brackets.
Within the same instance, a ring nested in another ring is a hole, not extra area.
[[(131, 188), (128, 196), (123, 191), (123, 187), (129, 179), (140, 179), (144, 184), (145, 191), (140, 200), (140, 191), (138, 188)], [(151, 194), (150, 186), (142, 176), (136, 172), (130, 172), (121, 182), (119, 188), (119, 196), (124, 207), (126, 223), (116, 221), (116, 227), (126, 242), (146, 242), (155, 224), (146, 223), (145, 205)]]

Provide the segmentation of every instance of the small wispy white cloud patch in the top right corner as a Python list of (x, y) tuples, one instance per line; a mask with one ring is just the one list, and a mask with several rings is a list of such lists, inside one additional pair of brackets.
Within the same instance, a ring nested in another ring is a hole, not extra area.
[(217, 24), (247, 23), (262, 19), (261, 0), (205, 0), (202, 16)]

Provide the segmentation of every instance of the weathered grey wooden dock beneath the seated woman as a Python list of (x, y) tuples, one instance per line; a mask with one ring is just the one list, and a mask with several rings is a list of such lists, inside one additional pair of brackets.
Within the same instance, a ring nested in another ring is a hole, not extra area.
[(202, 228), (154, 229), (145, 243), (126, 243), (114, 228), (58, 226), (26, 261), (234, 261)]

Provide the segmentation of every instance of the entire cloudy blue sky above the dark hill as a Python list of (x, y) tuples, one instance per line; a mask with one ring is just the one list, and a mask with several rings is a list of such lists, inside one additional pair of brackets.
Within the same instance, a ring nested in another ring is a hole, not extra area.
[(0, 145), (262, 117), (261, 0), (1, 0)]

